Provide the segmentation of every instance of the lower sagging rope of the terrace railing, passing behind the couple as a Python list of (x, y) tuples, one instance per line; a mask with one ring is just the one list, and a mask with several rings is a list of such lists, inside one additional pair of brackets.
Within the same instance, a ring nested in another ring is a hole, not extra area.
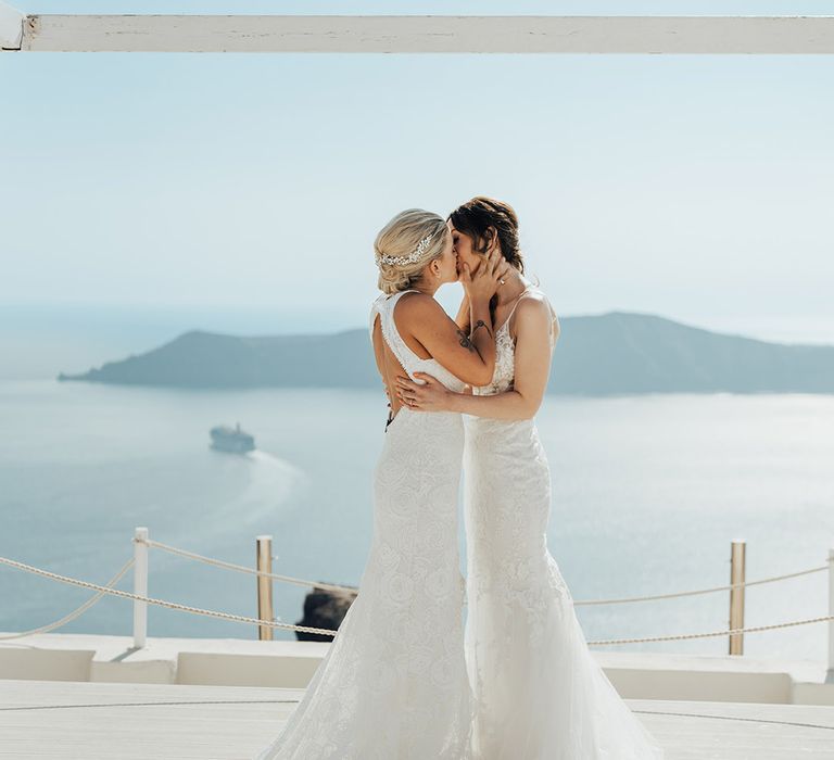
[[(309, 628), (305, 625), (293, 625), (291, 623), (282, 623), (275, 620), (260, 620), (257, 618), (250, 618), (242, 615), (232, 615), (230, 612), (218, 612), (216, 610), (202, 609), (200, 607), (192, 607), (189, 605), (180, 605), (176, 601), (167, 601), (166, 599), (156, 599), (149, 596), (142, 596), (140, 594), (132, 594), (130, 592), (121, 591), (118, 588), (112, 588), (106, 585), (100, 585), (97, 583), (91, 583), (89, 581), (81, 581), (79, 579), (70, 578), (67, 575), (61, 575), (59, 573), (51, 572), (49, 570), (42, 570), (41, 568), (36, 568), (31, 565), (18, 562), (14, 559), (9, 559), (7, 557), (0, 557), (0, 563), (16, 568), (18, 570), (23, 570), (25, 572), (29, 572), (36, 575), (40, 575), (42, 578), (48, 578), (53, 581), (59, 581), (61, 583), (65, 583), (68, 585), (74, 585), (81, 588), (91, 588), (93, 591), (99, 592), (102, 595), (110, 594), (111, 596), (119, 596), (122, 598), (132, 599), (135, 601), (143, 601), (146, 604), (156, 605), (160, 607), (167, 607), (169, 609), (175, 609), (182, 612), (190, 612), (192, 615), (200, 615), (200, 616), (210, 617), (210, 618), (217, 618), (219, 620), (228, 620), (231, 622), (248, 623), (252, 625), (264, 625), (264, 626), (281, 629), (286, 631), (300, 631), (303, 633), (315, 633), (315, 634), (321, 634), (326, 636), (337, 635), (337, 631), (331, 631), (328, 629)], [(126, 570), (126, 568), (123, 568), (123, 570)], [(643, 643), (650, 643), (650, 642), (684, 641), (690, 638), (711, 638), (711, 637), (737, 635), (737, 634), (744, 634), (744, 633), (758, 633), (760, 631), (773, 631), (776, 629), (794, 628), (797, 625), (810, 625), (812, 623), (831, 622), (831, 621), (834, 621), (834, 615), (822, 616), (819, 618), (808, 618), (805, 620), (793, 620), (785, 623), (774, 623), (771, 625), (757, 625), (754, 628), (741, 628), (741, 629), (729, 629), (729, 630), (724, 629), (721, 631), (709, 631), (705, 633), (683, 633), (683, 634), (673, 634), (673, 635), (667, 635), (667, 636), (647, 636), (643, 638), (609, 638), (609, 639), (602, 639), (602, 641), (590, 641), (587, 642), (587, 645), (589, 646), (610, 646), (610, 645), (617, 645), (617, 644), (643, 644)]]

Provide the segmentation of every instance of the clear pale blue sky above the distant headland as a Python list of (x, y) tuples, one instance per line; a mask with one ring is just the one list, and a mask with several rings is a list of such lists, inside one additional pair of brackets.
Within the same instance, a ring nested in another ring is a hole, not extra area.
[[(830, 2), (12, 2), (823, 14)], [(513, 203), (563, 315), (834, 343), (833, 56), (0, 55), (0, 304), (361, 326), (394, 213)], [(450, 290), (450, 296), (455, 294)], [(197, 325), (195, 325), (197, 327)], [(270, 331), (274, 326), (270, 326)]]

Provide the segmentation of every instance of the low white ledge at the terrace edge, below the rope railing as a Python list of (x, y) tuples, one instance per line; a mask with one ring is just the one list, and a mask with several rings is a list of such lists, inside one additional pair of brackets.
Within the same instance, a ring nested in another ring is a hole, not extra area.
[[(0, 644), (0, 679), (304, 688), (328, 643), (40, 634)], [(834, 705), (825, 664), (810, 660), (597, 651), (628, 699)]]

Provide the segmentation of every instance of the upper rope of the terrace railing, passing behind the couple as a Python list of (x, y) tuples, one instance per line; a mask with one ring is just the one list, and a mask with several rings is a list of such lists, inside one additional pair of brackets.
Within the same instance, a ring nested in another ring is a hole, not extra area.
[[(147, 544), (149, 547), (152, 547), (152, 548), (159, 548), (159, 549), (162, 549), (163, 552), (168, 552), (169, 554), (175, 554), (180, 557), (186, 557), (188, 559), (193, 559), (200, 562), (205, 562), (206, 565), (213, 565), (215, 567), (225, 568), (227, 570), (235, 570), (236, 572), (243, 572), (250, 575), (269, 578), (274, 581), (280, 581), (282, 583), (291, 583), (291, 584), (304, 586), (307, 588), (316, 587), (316, 588), (324, 588), (326, 591), (336, 591), (336, 592), (346, 591), (346, 592), (355, 593), (357, 591), (356, 586), (344, 586), (337, 583), (319, 583), (318, 581), (311, 581), (307, 579), (295, 578), (292, 575), (281, 575), (274, 572), (263, 572), (261, 570), (247, 567), (245, 565), (237, 565), (236, 562), (228, 562), (223, 559), (206, 557), (205, 555), (197, 554), (195, 552), (189, 552), (187, 549), (182, 549), (177, 546), (170, 546), (169, 544), (164, 544), (160, 541), (153, 541), (151, 539), (142, 539), (142, 540), (134, 539), (134, 541), (137, 543)], [(831, 562), (832, 560), (829, 560), (829, 561)], [(785, 581), (791, 578), (799, 578), (801, 575), (810, 575), (812, 573), (822, 572), (827, 569), (829, 569), (827, 565), (820, 565), (818, 567), (809, 568), (807, 570), (799, 570), (798, 572), (789, 572), (782, 575), (771, 575), (770, 578), (762, 578), (757, 581), (742, 581), (740, 583), (729, 583), (723, 586), (710, 586), (709, 588), (696, 588), (693, 591), (672, 592), (669, 594), (652, 594), (648, 596), (627, 596), (627, 597), (617, 597), (617, 598), (610, 598), (610, 599), (576, 599), (573, 601), (573, 605), (577, 607), (591, 606), (591, 605), (620, 605), (620, 604), (628, 604), (632, 601), (655, 601), (659, 599), (674, 599), (674, 598), (686, 597), (686, 596), (698, 596), (702, 594), (715, 594), (717, 592), (722, 592), (722, 591), (732, 591), (733, 588), (744, 588), (746, 586), (757, 586), (766, 583), (776, 583), (778, 581)]]

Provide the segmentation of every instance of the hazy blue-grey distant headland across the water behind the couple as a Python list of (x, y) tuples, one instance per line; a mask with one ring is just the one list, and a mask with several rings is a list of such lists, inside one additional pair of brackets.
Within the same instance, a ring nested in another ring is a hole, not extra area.
[[(611, 312), (560, 318), (548, 393), (834, 393), (834, 346)], [(193, 330), (61, 381), (194, 389), (378, 388), (367, 330), (244, 338)]]

